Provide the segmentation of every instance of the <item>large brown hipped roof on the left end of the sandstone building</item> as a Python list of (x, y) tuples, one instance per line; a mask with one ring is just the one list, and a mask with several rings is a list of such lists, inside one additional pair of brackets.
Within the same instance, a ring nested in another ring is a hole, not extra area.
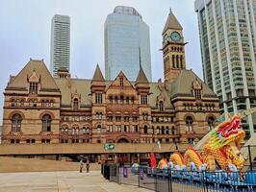
[(50, 72), (48, 71), (43, 60), (30, 60), (24, 68), (11, 80), (7, 85), (8, 88), (27, 88), (28, 78), (33, 73), (36, 73), (40, 80), (41, 89), (51, 89), (60, 91), (57, 84), (55, 84)]

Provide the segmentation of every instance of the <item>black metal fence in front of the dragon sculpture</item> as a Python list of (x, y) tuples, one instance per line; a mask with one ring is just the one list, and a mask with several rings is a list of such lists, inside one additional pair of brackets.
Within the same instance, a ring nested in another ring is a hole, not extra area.
[[(110, 180), (157, 192), (252, 192), (256, 170), (248, 172), (192, 172), (151, 169), (145, 166), (108, 165)], [(108, 172), (108, 171), (107, 171)], [(103, 173), (104, 172), (103, 170)]]

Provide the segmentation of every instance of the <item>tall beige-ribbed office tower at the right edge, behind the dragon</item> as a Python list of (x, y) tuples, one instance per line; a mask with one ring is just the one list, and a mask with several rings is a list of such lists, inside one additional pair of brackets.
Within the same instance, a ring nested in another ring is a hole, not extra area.
[[(256, 107), (256, 1), (195, 0), (204, 81), (218, 94), (220, 111)], [(256, 129), (256, 116), (243, 121), (246, 134)]]

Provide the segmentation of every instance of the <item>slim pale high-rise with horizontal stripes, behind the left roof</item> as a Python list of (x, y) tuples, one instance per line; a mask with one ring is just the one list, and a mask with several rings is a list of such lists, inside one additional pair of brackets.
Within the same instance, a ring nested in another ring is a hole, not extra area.
[(55, 14), (51, 32), (51, 74), (57, 77), (59, 68), (69, 71), (70, 17)]

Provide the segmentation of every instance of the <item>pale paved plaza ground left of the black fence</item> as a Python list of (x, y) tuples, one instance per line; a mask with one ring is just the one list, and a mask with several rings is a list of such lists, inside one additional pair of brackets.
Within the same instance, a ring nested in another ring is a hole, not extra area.
[(67, 172), (29, 172), (1, 173), (1, 192), (149, 192), (149, 190), (130, 185), (119, 185), (105, 180), (100, 171), (79, 173)]

